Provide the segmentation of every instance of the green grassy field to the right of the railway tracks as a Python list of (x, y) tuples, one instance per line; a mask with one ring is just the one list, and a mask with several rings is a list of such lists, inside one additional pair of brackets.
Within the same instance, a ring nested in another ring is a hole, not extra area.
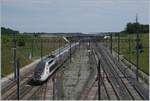
[[(120, 34), (120, 54), (136, 65), (136, 34), (129, 35), (131, 41), (131, 50), (129, 51), (128, 34)], [(113, 49), (117, 52), (118, 43), (117, 36), (113, 36)], [(126, 40), (126, 41), (122, 41)], [(140, 34), (140, 43), (143, 46), (143, 51), (139, 56), (139, 68), (149, 75), (149, 34)]]

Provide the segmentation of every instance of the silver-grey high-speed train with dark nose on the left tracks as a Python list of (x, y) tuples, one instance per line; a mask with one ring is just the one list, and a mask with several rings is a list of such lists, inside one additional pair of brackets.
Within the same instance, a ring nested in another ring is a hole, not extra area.
[(54, 54), (48, 56), (39, 62), (33, 74), (32, 79), (34, 81), (43, 82), (57, 69), (57, 64), (65, 61), (75, 51), (75, 47), (79, 45), (79, 42), (71, 45), (66, 45), (65, 48), (60, 48), (54, 51)]

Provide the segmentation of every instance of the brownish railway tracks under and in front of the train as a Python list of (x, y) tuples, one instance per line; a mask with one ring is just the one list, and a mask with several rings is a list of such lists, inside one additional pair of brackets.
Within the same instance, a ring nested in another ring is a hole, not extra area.
[[(55, 74), (65, 62), (60, 64), (57, 67), (57, 69), (55, 70), (55, 72), (53, 72), (53, 74)], [(47, 82), (49, 82), (49, 80), (52, 78), (53, 74), (49, 77)], [(31, 76), (31, 75), (32, 74), (30, 74), (29, 76)], [(32, 86), (32, 85), (28, 85), (28, 81), (29, 81), (29, 78), (26, 78), (26, 77), (24, 77), (20, 81), (20, 99), (25, 99), (26, 100), (26, 99), (35, 98), (33, 96), (34, 96), (35, 92), (37, 92), (39, 90), (42, 90), (40, 92), (40, 94), (44, 94), (42, 99), (45, 99), (47, 82), (40, 85), (40, 86)], [(16, 96), (16, 83), (15, 82), (12, 83), (6, 89), (5, 89), (5, 92), (2, 93), (2, 99), (3, 100), (16, 100), (17, 99), (17, 96)], [(40, 96), (40, 94), (38, 96)]]

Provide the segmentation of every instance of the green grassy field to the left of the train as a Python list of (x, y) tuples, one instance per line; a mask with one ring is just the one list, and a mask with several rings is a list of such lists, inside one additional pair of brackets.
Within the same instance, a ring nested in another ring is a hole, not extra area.
[[(41, 57), (41, 40), (42, 40), (42, 54), (47, 55), (51, 51), (63, 47), (66, 43), (62, 37), (33, 37), (27, 35), (17, 35), (16, 55), (20, 60), (20, 68), (31, 63), (35, 59)], [(10, 74), (13, 71), (12, 67), (12, 36), (1, 36), (1, 74), (2, 77)], [(23, 45), (19, 45), (19, 44)], [(32, 58), (29, 58), (32, 54)]]

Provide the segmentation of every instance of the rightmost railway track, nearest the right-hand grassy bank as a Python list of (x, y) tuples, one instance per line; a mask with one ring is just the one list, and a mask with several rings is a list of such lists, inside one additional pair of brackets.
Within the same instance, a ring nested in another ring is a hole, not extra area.
[(123, 67), (125, 67), (125, 65), (123, 65), (122, 63), (119, 63), (116, 58), (113, 58), (111, 56), (110, 52), (108, 51), (108, 49), (106, 49), (105, 47), (103, 47), (103, 48), (104, 48), (105, 52), (109, 55), (109, 58), (115, 63), (115, 65), (117, 65), (118, 71), (124, 75), (124, 77), (126, 78), (128, 83), (130, 84), (127, 87), (129, 87), (129, 92), (132, 93), (133, 99), (137, 99), (139, 95), (142, 99), (148, 99), (149, 98), (148, 89), (142, 89), (142, 87), (140, 87), (140, 86), (143, 86), (144, 83), (137, 82), (135, 79), (136, 75), (133, 72), (131, 72), (131, 70), (129, 70), (129, 68), (127, 68), (127, 67), (123, 68)]

